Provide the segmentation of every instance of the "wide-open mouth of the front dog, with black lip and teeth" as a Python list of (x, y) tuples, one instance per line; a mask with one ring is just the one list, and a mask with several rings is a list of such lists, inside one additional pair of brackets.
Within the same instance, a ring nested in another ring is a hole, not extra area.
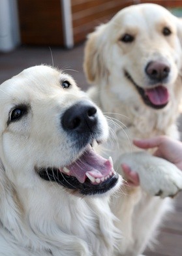
[(105, 193), (115, 186), (119, 178), (112, 159), (104, 159), (90, 145), (74, 163), (66, 167), (36, 169), (44, 180), (78, 190), (82, 195)]

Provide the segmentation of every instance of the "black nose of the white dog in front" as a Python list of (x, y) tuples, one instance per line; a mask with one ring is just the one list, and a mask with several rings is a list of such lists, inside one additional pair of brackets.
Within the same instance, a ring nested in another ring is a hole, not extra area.
[(80, 101), (68, 108), (61, 123), (65, 131), (93, 131), (97, 125), (97, 108), (87, 101)]

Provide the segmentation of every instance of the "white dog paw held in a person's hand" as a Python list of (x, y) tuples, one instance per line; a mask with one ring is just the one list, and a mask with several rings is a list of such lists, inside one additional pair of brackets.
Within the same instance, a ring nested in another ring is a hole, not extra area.
[(140, 186), (152, 196), (175, 197), (182, 189), (182, 172), (174, 164), (146, 152), (125, 154), (121, 163), (138, 173)]

